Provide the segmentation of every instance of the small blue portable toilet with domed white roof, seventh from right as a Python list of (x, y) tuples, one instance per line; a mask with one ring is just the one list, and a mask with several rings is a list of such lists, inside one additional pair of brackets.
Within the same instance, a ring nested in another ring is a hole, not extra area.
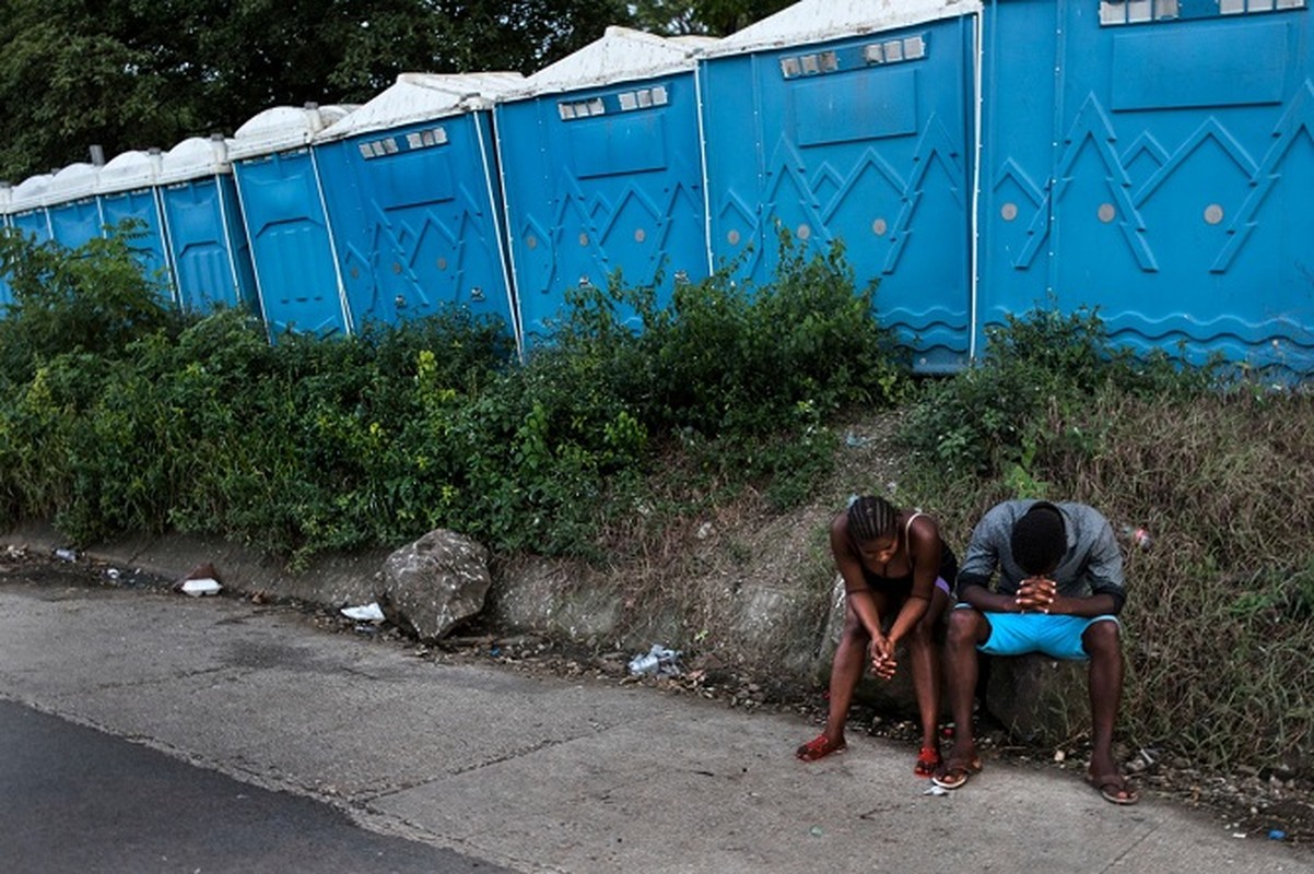
[(164, 240), (163, 205), (156, 189), (160, 164), (158, 151), (129, 151), (114, 156), (100, 168), (96, 198), (105, 232), (117, 234), (127, 223), (131, 230), (126, 243), (142, 274), (159, 287), (166, 302), (176, 304)]

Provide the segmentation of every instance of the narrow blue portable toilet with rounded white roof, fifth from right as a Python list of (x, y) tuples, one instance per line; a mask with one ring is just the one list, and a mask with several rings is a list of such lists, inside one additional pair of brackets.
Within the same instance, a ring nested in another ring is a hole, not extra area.
[(288, 331), (351, 332), (311, 138), (346, 106), (275, 106), (233, 135), (229, 159), (251, 240), (256, 289), (271, 339)]

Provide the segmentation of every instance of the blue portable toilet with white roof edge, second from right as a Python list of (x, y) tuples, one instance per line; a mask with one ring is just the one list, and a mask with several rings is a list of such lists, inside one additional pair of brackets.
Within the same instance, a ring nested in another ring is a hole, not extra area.
[(771, 281), (782, 231), (842, 243), (924, 373), (971, 336), (975, 0), (803, 0), (708, 50), (711, 249)]

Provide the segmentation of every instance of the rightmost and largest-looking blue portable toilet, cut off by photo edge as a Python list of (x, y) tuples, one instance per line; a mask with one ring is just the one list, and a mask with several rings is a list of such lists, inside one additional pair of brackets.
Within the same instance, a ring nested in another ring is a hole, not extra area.
[(1306, 1), (992, 0), (984, 34), (983, 329), (1053, 298), (1314, 371)]

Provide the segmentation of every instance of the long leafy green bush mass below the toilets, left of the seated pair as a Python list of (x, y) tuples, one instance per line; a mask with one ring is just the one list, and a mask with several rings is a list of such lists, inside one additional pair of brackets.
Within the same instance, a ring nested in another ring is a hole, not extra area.
[(3, 509), (78, 542), (173, 528), (302, 559), (447, 526), (600, 556), (611, 521), (658, 504), (657, 459), (696, 459), (686, 495), (791, 505), (830, 465), (827, 416), (900, 385), (840, 252), (786, 253), (752, 295), (682, 285), (665, 310), (619, 277), (576, 289), (518, 364), (505, 325), (460, 310), (269, 345), (242, 312), (175, 319), (121, 243), (11, 245)]

